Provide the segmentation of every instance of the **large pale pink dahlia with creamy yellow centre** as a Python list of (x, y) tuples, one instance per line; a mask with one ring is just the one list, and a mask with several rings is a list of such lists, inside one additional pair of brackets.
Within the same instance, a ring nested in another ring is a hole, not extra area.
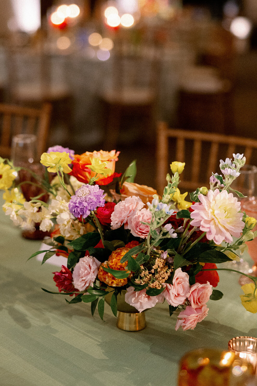
[(200, 194), (198, 198), (201, 202), (191, 205), (191, 225), (207, 232), (207, 239), (216, 244), (224, 240), (231, 243), (232, 236), (240, 237), (245, 224), (242, 221), (243, 213), (239, 213), (240, 202), (232, 193), (215, 189), (214, 192), (210, 190), (207, 196)]

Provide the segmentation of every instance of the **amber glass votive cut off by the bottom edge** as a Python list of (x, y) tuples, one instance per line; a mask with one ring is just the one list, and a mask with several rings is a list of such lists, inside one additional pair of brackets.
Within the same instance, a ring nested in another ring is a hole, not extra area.
[(178, 386), (243, 386), (253, 376), (252, 364), (234, 352), (203, 348), (181, 358)]

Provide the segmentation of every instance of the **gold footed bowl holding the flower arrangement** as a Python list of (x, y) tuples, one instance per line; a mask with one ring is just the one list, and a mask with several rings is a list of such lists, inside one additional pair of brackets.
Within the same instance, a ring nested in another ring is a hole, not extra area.
[[(112, 291), (113, 288), (108, 288), (107, 291)], [(140, 331), (146, 327), (146, 318), (144, 312), (139, 313), (136, 308), (130, 306), (125, 301), (126, 290), (123, 289), (117, 295), (117, 327), (124, 331)], [(111, 304), (113, 292), (105, 296), (106, 303)]]

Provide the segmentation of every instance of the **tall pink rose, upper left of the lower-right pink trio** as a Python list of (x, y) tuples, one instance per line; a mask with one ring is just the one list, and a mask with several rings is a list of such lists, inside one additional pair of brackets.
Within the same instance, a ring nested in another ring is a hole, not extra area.
[(177, 307), (185, 304), (190, 289), (189, 276), (186, 272), (182, 272), (181, 268), (176, 269), (173, 284), (166, 284), (166, 289), (163, 295), (168, 304)]

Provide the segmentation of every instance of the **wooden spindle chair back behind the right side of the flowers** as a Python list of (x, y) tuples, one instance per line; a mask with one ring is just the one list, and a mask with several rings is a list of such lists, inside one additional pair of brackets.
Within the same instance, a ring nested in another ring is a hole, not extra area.
[[(173, 148), (170, 152), (169, 139), (172, 139)], [(254, 149), (257, 149), (254, 139), (169, 129), (165, 122), (160, 122), (157, 131), (157, 191), (160, 193), (167, 185), (166, 174), (170, 172), (172, 161), (186, 163), (180, 174), (179, 188), (193, 191), (201, 186), (208, 187), (212, 172), (221, 174), (220, 159), (233, 159), (233, 153), (244, 153), (247, 164), (256, 163)], [(172, 156), (169, 157), (169, 154)]]

